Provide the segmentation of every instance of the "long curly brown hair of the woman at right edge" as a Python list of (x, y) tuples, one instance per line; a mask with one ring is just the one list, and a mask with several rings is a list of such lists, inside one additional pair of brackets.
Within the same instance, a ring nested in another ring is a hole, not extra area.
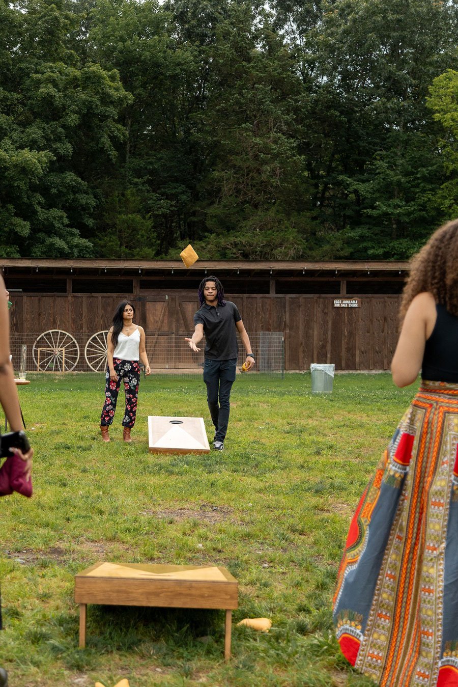
[(400, 321), (418, 293), (432, 293), (436, 303), (458, 317), (458, 219), (439, 227), (411, 260), (411, 272), (404, 286)]

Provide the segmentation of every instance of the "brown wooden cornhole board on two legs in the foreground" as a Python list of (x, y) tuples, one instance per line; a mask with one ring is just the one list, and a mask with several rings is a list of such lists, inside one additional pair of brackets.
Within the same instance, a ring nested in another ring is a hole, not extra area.
[(231, 655), (232, 611), (238, 607), (238, 582), (225, 567), (100, 561), (75, 576), (75, 601), (80, 605), (81, 649), (86, 645), (87, 604), (95, 603), (225, 609), (225, 660)]

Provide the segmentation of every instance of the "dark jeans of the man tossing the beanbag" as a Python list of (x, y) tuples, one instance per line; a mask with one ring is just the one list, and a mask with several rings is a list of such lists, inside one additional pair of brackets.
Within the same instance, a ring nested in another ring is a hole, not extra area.
[(229, 423), (229, 396), (236, 381), (237, 359), (211, 360), (205, 358), (203, 381), (207, 385), (207, 403), (211, 421), (215, 425), (215, 440), (224, 441)]

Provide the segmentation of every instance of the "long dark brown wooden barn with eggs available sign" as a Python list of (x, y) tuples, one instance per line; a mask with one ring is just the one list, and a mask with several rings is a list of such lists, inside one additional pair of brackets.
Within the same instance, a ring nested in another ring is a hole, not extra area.
[[(49, 335), (41, 335), (58, 330), (78, 342), (80, 361), (66, 366), (75, 370), (90, 369), (84, 366), (82, 348), (108, 329), (124, 297), (137, 308), (153, 367), (194, 365), (179, 342), (194, 330), (197, 287), (211, 274), (240, 308), (256, 346), (267, 350), (272, 341), (284, 339), (286, 371), (308, 370), (310, 363), (334, 363), (336, 370), (387, 370), (409, 270), (407, 262), (199, 260), (187, 268), (181, 260), (29, 258), (3, 258), (0, 267), (14, 304), (14, 346), (26, 344), (29, 355), (34, 347), (28, 368), (36, 369), (38, 354), (42, 361), (47, 357)], [(273, 333), (276, 338), (269, 338)], [(61, 343), (53, 338), (51, 348)]]

